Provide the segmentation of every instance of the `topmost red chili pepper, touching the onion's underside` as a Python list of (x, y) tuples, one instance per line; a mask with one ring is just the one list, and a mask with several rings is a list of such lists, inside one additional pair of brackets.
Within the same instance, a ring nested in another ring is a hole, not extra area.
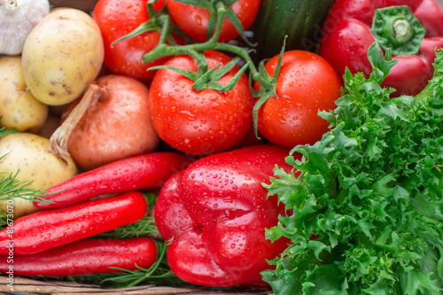
[(148, 153), (89, 170), (51, 187), (44, 198), (54, 203), (35, 202), (39, 208), (57, 208), (80, 203), (106, 193), (160, 187), (171, 175), (190, 163), (183, 154), (161, 151)]

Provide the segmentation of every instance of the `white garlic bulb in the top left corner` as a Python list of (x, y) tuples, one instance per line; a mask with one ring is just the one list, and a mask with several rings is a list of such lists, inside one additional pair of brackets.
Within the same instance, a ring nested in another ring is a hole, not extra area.
[(48, 0), (0, 0), (0, 54), (19, 55), (31, 29), (49, 12)]

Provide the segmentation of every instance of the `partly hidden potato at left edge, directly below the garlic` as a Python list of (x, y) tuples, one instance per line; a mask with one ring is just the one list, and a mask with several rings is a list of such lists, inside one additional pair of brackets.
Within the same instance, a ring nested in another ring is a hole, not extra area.
[(21, 72), (19, 56), (0, 58), (0, 126), (37, 130), (48, 116), (44, 105), (31, 94)]

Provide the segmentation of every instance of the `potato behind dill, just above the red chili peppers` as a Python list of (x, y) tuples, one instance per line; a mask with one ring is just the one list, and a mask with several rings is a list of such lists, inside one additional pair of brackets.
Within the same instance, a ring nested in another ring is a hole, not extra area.
[[(33, 181), (27, 188), (44, 189), (77, 174), (74, 160), (66, 157), (67, 165), (49, 151), (49, 140), (30, 133), (12, 133), (0, 138), (0, 172), (17, 174), (21, 182)], [(14, 217), (36, 212), (38, 209), (27, 199), (12, 198)], [(0, 201), (0, 212), (6, 212), (6, 200)]]

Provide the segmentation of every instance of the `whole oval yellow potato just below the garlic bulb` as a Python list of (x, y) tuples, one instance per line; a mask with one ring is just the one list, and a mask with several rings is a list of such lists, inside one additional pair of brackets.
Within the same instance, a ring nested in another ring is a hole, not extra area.
[(23, 76), (43, 104), (65, 105), (96, 79), (104, 57), (94, 19), (74, 8), (58, 8), (27, 36), (21, 55)]

